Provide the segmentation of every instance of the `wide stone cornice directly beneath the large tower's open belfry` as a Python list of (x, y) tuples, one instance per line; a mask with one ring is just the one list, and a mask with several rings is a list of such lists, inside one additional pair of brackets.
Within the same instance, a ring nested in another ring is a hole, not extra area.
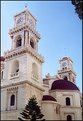
[(12, 58), (12, 57), (16, 57), (16, 56), (24, 54), (24, 53), (29, 53), (30, 55), (34, 56), (37, 60), (39, 60), (41, 63), (44, 62), (44, 57), (42, 57), (40, 54), (38, 54), (29, 45), (23, 46), (23, 47), (18, 47), (18, 48), (15, 48), (13, 50), (5, 52), (4, 53), (5, 61)]

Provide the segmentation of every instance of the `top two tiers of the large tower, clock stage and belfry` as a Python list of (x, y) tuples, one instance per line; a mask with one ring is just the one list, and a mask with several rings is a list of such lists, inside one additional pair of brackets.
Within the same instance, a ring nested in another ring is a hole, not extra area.
[(30, 46), (38, 51), (40, 34), (36, 31), (35, 17), (27, 9), (14, 16), (14, 28), (9, 34), (12, 39), (12, 49)]

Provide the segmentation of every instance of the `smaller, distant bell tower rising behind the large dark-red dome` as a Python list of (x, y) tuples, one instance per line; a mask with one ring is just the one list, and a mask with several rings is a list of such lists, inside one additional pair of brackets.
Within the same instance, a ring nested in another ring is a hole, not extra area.
[(70, 57), (63, 57), (60, 61), (60, 70), (58, 70), (58, 75), (60, 78), (76, 82), (76, 73), (73, 70), (73, 61)]

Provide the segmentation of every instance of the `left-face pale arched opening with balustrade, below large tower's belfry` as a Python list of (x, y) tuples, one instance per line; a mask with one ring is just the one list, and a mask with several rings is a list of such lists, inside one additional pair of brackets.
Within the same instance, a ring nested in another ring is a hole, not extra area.
[(18, 72), (19, 72), (19, 61), (18, 61), (18, 60), (15, 60), (15, 61), (12, 63), (11, 69), (12, 69), (12, 71), (11, 71), (11, 76), (16, 76), (16, 75), (18, 75)]

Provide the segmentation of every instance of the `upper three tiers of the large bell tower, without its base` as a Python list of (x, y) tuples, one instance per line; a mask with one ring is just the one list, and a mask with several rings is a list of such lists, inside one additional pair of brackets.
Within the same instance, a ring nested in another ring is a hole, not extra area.
[[(40, 34), (36, 31), (36, 19), (27, 10), (14, 16), (14, 28), (10, 29), (11, 50), (5, 52), (6, 78), (19, 76), (39, 86), (42, 84), (43, 57), (38, 53)], [(35, 82), (33, 81), (35, 80)]]

